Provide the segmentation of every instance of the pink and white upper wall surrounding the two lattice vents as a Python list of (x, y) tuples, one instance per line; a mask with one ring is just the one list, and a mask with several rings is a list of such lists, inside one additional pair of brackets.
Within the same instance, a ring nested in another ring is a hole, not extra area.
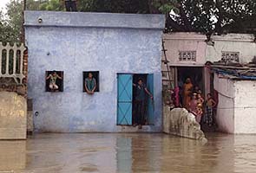
[[(207, 44), (206, 35), (198, 33), (171, 33), (164, 35), (167, 59), (171, 66), (198, 66), (207, 61), (220, 61), (222, 51), (240, 52), (240, 62), (251, 62), (256, 56), (254, 35), (212, 35), (213, 44)], [(179, 61), (179, 51), (196, 51), (196, 61)]]

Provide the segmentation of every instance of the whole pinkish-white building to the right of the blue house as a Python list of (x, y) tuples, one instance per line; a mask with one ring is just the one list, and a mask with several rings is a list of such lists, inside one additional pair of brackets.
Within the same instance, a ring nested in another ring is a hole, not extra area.
[[(216, 90), (219, 93), (216, 120), (220, 131), (256, 133), (253, 125), (256, 125), (256, 116), (253, 119), (256, 81), (222, 78), (205, 66), (207, 61), (237, 61), (240, 64), (252, 62), (256, 57), (254, 35), (212, 35), (210, 41), (207, 41), (206, 35), (172, 33), (164, 35), (163, 41), (173, 86), (181, 86), (190, 77), (199, 84), (203, 93)], [(162, 70), (163, 84), (167, 85), (167, 68), (164, 64)]]

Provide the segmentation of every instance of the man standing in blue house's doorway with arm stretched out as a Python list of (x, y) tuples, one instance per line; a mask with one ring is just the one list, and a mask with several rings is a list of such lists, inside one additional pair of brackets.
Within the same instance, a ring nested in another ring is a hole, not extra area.
[(151, 99), (154, 98), (142, 79), (139, 79), (138, 83), (133, 86), (135, 86), (135, 125), (139, 125), (139, 129), (141, 129), (144, 121), (146, 93)]

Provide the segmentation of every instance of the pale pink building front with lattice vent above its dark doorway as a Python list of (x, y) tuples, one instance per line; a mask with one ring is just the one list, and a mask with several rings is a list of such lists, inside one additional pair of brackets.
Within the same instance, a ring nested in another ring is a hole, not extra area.
[[(206, 35), (197, 33), (171, 33), (163, 36), (172, 86), (181, 86), (190, 77), (204, 90), (206, 39)], [(167, 67), (163, 63), (162, 69), (163, 83), (167, 85)]]

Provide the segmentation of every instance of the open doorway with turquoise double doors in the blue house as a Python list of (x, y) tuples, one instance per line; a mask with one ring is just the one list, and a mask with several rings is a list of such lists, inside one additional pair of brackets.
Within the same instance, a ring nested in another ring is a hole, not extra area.
[[(153, 74), (117, 74), (117, 125), (153, 125), (154, 124), (154, 100), (145, 93), (143, 105), (138, 107), (136, 86), (142, 80), (148, 92), (154, 95)], [(140, 110), (140, 114), (138, 114)], [(139, 118), (139, 119), (138, 119)], [(140, 122), (138, 122), (140, 121)]]

